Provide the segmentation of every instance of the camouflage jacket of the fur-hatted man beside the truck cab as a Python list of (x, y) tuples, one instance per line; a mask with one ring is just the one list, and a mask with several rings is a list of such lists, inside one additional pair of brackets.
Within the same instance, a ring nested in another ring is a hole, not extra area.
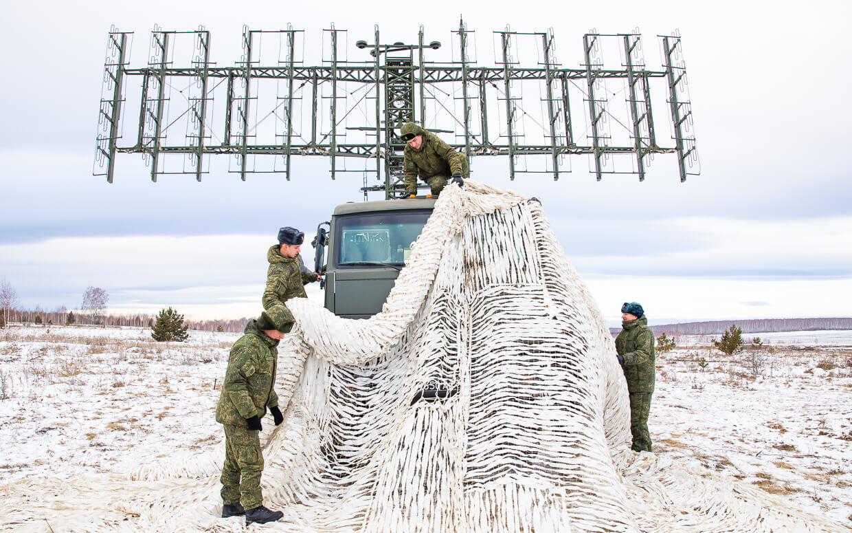
[[(290, 298), (307, 298), (305, 284), (316, 281), (317, 276), (302, 264), (302, 257), (285, 258), (281, 255), (281, 245), (269, 247), (267, 259), (267, 286), (263, 291), (263, 309), (275, 323), (276, 327), (286, 322), (293, 322), (293, 316), (285, 302)], [(290, 331), (289, 328), (285, 328)], [(284, 330), (282, 330), (284, 331)]]

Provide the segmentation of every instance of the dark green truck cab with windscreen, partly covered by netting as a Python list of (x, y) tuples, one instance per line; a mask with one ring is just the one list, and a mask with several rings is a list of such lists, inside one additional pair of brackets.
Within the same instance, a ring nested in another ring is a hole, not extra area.
[[(337, 206), (327, 236), (317, 232), (318, 243), (327, 248), (325, 308), (344, 318), (369, 318), (381, 311), (434, 208), (434, 198)], [(324, 254), (322, 246), (316, 247), (320, 271)]]

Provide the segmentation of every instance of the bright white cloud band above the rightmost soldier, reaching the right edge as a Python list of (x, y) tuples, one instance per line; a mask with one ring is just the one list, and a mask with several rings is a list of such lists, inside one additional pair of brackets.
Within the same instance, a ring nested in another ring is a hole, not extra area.
[[(852, 217), (793, 219), (787, 221), (734, 220), (688, 217), (650, 221), (628, 235), (637, 243), (659, 228), (661, 235), (697, 235), (694, 241), (671, 240), (654, 246), (626, 250), (597, 246), (574, 255), (562, 242), (569, 258), (588, 274), (660, 275), (739, 279), (796, 279), (852, 277)], [(669, 228), (676, 228), (671, 231)], [(557, 230), (557, 235), (559, 231)], [(561, 235), (560, 235), (561, 239)], [(604, 239), (607, 245), (611, 240)]]

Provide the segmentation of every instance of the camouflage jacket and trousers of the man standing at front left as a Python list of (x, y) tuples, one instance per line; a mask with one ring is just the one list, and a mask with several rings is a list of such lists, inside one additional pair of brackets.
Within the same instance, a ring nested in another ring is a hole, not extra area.
[(262, 505), (263, 455), (259, 432), (246, 419), (263, 418), (266, 409), (278, 405), (275, 370), (278, 340), (268, 337), (253, 320), (234, 343), (227, 359), (222, 394), (216, 405), (216, 421), (225, 426), (225, 465), (222, 466), (222, 501), (242, 503), (246, 509)]

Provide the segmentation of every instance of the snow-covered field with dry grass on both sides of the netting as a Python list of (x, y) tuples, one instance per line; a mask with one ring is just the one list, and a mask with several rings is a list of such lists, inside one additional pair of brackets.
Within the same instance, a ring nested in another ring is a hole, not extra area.
[[(768, 349), (724, 356), (709, 337), (683, 337), (658, 355), (655, 453), (852, 525), (852, 332), (752, 336)], [(149, 329), (0, 329), (0, 485), (217, 456), (214, 410), (238, 338), (192, 332), (165, 344)]]

